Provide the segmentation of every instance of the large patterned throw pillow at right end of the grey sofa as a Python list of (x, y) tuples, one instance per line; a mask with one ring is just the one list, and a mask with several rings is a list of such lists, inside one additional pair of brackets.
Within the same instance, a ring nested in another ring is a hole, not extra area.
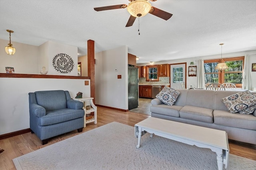
[[(246, 90), (244, 92), (239, 92), (226, 98), (222, 98), (221, 101), (225, 104), (230, 113), (241, 111), (242, 114), (250, 114), (250, 110), (253, 109), (251, 106), (256, 104), (256, 96), (251, 94), (249, 90)], [(249, 111), (246, 110), (248, 107), (250, 107)]]

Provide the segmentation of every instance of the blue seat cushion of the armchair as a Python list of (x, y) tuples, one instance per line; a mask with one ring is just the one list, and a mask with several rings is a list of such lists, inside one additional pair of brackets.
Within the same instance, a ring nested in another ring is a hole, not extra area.
[(47, 111), (45, 116), (39, 117), (39, 125), (46, 126), (61, 123), (79, 117), (84, 117), (83, 109), (60, 109)]

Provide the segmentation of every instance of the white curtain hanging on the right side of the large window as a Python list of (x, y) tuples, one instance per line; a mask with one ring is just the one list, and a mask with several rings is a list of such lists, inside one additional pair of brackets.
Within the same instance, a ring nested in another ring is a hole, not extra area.
[(250, 90), (251, 80), (249, 55), (245, 55), (242, 89)]

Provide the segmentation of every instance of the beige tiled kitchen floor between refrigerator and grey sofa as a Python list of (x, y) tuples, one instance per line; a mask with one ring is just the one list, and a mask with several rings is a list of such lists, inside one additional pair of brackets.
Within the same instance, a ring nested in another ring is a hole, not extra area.
[(150, 106), (152, 99), (139, 98), (139, 106), (135, 109), (131, 109), (129, 111), (134, 113), (142, 113), (151, 116)]

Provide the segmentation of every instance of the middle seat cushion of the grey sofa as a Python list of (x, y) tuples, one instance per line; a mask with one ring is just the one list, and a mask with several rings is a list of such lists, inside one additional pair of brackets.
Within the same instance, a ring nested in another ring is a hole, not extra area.
[(213, 110), (203, 107), (184, 106), (180, 109), (180, 117), (207, 123), (213, 123)]

